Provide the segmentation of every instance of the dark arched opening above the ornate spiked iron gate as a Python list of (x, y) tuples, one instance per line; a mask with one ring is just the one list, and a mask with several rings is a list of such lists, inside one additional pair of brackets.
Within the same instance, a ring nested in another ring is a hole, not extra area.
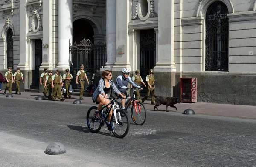
[(73, 44), (80, 44), (83, 39), (93, 41), (93, 27), (85, 19), (78, 19), (73, 22)]

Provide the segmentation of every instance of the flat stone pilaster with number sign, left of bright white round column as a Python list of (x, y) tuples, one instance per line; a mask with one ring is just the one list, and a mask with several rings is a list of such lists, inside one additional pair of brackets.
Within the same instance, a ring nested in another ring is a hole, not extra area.
[(45, 0), (43, 3), (43, 63), (40, 71), (44, 68), (52, 69), (52, 0)]

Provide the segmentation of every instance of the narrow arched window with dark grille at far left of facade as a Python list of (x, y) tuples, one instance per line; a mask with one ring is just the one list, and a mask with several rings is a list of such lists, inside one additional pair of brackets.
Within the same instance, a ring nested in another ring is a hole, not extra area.
[(13, 68), (13, 33), (12, 29), (7, 31), (6, 35), (6, 57), (7, 57), (7, 67)]

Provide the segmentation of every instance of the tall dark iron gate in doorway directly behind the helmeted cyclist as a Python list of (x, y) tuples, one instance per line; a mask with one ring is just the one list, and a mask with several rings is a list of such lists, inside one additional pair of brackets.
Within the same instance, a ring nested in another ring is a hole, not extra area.
[[(156, 66), (156, 33), (154, 29), (140, 31), (140, 76), (146, 81), (149, 70)], [(142, 90), (143, 92), (145, 89)]]

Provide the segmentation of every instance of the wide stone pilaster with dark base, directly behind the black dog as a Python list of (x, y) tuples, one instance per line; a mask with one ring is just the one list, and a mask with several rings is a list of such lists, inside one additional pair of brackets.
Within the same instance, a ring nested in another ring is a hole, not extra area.
[[(158, 2), (158, 47), (156, 47), (156, 66), (154, 76), (156, 80), (156, 94), (172, 96), (175, 86), (174, 63), (174, 0), (160, 0)], [(157, 84), (158, 83), (158, 84)]]

